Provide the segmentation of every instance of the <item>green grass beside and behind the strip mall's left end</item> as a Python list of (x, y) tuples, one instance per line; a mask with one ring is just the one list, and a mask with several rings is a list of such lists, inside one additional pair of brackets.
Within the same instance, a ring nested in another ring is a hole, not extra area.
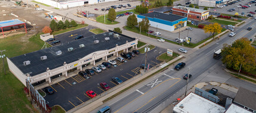
[[(30, 38), (26, 34), (18, 34), (0, 39), (0, 49), (6, 50), (3, 54), (7, 57), (40, 50), (43, 44), (39, 34)], [(4, 63), (7, 75), (4, 75), (3, 64), (0, 62), (0, 112), (36, 112), (23, 91), (25, 86), (9, 71), (6, 59)]]

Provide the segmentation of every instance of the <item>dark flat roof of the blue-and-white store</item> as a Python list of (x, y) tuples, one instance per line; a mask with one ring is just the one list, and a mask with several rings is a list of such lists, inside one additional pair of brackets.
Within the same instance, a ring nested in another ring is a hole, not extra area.
[(174, 15), (174, 14), (164, 14), (161, 12), (149, 12), (147, 14), (141, 14), (145, 17), (150, 17), (150, 18), (159, 18), (161, 20), (166, 20), (166, 21), (176, 21), (176, 20), (180, 20), (182, 18), (186, 18), (180, 15)]

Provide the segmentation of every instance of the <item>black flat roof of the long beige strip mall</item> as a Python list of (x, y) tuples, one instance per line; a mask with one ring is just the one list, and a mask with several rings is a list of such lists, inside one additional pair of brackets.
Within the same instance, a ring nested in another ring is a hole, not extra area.
[[(32, 53), (23, 54), (21, 56), (11, 57), (10, 60), (21, 70), (24, 74), (30, 73), (30, 76), (35, 76), (40, 73), (46, 72), (47, 67), (49, 69), (55, 69), (63, 66), (63, 63), (73, 63), (90, 53), (100, 50), (109, 50), (115, 47), (126, 44), (126, 41), (131, 42), (136, 40), (135, 38), (128, 37), (126, 35), (119, 34), (118, 37), (114, 37), (113, 31), (109, 30), (106, 33), (96, 34), (89, 37), (85, 37), (79, 40), (70, 41), (68, 43), (60, 44), (55, 47), (48, 47), (46, 49), (34, 51)], [(110, 40), (105, 40), (105, 37), (110, 37)], [(94, 43), (95, 40), (99, 40), (99, 43)], [(79, 45), (84, 44), (85, 47), (80, 48)], [(68, 51), (68, 48), (73, 47), (73, 51)], [(56, 51), (62, 51), (62, 54), (58, 56)], [(46, 60), (40, 60), (41, 56), (47, 56)], [(23, 62), (30, 60), (29, 65), (24, 65)]]

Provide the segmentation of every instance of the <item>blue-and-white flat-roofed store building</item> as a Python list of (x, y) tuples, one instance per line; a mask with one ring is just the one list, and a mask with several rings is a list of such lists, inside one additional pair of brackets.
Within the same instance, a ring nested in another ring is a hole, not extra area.
[(174, 14), (164, 14), (161, 12), (149, 12), (138, 15), (138, 22), (148, 18), (150, 27), (160, 28), (161, 30), (174, 31), (187, 25), (187, 17)]

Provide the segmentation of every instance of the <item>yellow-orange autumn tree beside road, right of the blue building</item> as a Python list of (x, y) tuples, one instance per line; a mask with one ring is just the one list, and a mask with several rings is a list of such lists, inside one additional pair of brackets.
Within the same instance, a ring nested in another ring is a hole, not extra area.
[(210, 35), (212, 34), (213, 39), (214, 39), (214, 34), (221, 33), (221, 30), (222, 30), (222, 27), (217, 22), (214, 24), (209, 24), (204, 26), (204, 33), (210, 33)]

